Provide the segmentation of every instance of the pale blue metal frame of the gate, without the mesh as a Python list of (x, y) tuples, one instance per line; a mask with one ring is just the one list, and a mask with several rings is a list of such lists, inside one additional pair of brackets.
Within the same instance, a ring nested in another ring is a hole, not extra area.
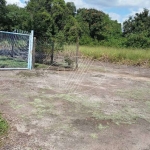
[(32, 69), (32, 51), (33, 51), (33, 40), (34, 40), (34, 31), (31, 30), (30, 34), (23, 34), (23, 33), (14, 33), (14, 32), (7, 32), (7, 31), (0, 31), (1, 33), (6, 34), (14, 34), (14, 35), (23, 35), (29, 36), (29, 47), (28, 47), (28, 63), (27, 68), (0, 68), (0, 70), (31, 70)]

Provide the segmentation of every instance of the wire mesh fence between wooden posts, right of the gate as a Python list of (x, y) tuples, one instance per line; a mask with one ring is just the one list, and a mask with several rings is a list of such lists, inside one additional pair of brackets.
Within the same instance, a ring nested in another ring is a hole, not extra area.
[(35, 62), (52, 66), (75, 68), (76, 44), (68, 45), (61, 41), (46, 38), (36, 39)]

